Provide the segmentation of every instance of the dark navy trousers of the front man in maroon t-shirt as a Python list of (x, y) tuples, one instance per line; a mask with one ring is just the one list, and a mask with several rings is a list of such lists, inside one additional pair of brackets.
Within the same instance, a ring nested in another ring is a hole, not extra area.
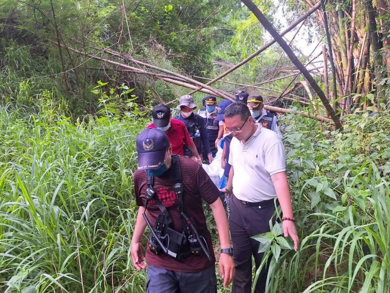
[(216, 293), (215, 266), (195, 273), (180, 273), (154, 266), (148, 267), (146, 293), (187, 292)]

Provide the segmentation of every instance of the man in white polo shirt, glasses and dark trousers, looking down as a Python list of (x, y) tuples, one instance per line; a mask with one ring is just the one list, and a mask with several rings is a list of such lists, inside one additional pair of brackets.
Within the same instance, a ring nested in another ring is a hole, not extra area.
[[(227, 131), (234, 138), (230, 144), (232, 165), (226, 192), (230, 196), (230, 232), (234, 247), (235, 275), (232, 293), (250, 293), (252, 255), (256, 269), (263, 254), (259, 243), (250, 237), (270, 231), (269, 221), (275, 211), (274, 198), (280, 204), (284, 236), (290, 235), (294, 250), (298, 236), (292, 215), (289, 185), (286, 177), (285, 151), (280, 137), (255, 124), (244, 103), (233, 103), (224, 111)], [(255, 292), (265, 292), (267, 269), (263, 269)]]

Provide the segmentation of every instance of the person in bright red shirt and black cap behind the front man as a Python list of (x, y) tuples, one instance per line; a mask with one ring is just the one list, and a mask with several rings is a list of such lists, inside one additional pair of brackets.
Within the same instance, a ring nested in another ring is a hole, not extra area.
[(196, 146), (183, 122), (172, 118), (171, 109), (165, 105), (157, 105), (152, 110), (153, 123), (146, 128), (158, 128), (165, 132), (172, 144), (172, 154), (184, 156), (186, 146), (195, 156), (195, 161), (202, 163)]

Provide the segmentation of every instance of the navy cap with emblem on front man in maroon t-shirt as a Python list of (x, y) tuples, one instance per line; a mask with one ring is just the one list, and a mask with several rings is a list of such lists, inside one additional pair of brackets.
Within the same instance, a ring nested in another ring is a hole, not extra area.
[(160, 129), (148, 128), (137, 139), (138, 169), (156, 170), (164, 164), (170, 142)]

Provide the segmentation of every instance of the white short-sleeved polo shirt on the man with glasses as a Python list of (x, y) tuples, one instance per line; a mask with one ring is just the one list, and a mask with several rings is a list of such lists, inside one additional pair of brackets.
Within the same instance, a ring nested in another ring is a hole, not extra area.
[(258, 202), (276, 196), (271, 175), (286, 171), (283, 142), (273, 131), (257, 125), (254, 135), (243, 144), (230, 143), (229, 164), (234, 168), (233, 193), (238, 199)]

